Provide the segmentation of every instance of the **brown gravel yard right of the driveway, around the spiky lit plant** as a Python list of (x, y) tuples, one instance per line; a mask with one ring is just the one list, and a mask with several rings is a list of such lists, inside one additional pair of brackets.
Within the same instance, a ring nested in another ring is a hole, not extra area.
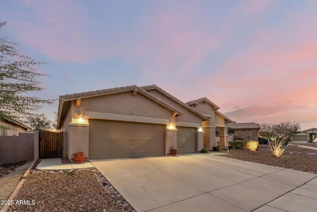
[(281, 157), (274, 157), (267, 148), (262, 144), (259, 151), (234, 149), (219, 156), (317, 174), (317, 150), (290, 145)]

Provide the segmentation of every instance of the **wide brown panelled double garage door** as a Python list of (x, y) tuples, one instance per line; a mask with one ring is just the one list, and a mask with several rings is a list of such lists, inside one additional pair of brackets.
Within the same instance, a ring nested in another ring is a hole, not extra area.
[(89, 120), (89, 158), (164, 155), (164, 125)]

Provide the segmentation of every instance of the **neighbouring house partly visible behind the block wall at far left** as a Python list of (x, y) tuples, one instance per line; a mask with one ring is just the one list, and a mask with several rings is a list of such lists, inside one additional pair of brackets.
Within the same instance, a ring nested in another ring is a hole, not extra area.
[(18, 136), (19, 133), (26, 133), (31, 130), (30, 127), (14, 120), (0, 121), (0, 125), (5, 127), (4, 129), (0, 128), (0, 136)]

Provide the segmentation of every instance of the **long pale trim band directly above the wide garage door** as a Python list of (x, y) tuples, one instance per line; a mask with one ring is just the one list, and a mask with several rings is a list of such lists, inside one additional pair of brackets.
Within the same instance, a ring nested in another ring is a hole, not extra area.
[(101, 113), (101, 112), (93, 112), (93, 111), (86, 111), (85, 117), (89, 119), (141, 122), (141, 123), (164, 124), (164, 125), (167, 125), (170, 123), (169, 119), (159, 119), (159, 118), (144, 117), (144, 116), (130, 116), (130, 115), (122, 115), (122, 114), (114, 114), (114, 113)]

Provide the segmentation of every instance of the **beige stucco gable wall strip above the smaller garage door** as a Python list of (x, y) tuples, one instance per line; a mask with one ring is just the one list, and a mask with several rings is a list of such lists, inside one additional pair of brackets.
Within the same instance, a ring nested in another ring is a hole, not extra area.
[(166, 96), (162, 92), (158, 91), (157, 89), (147, 90), (147, 92), (153, 94), (154, 96), (158, 97), (159, 99), (163, 100), (167, 104), (175, 107), (176, 109), (180, 110), (183, 115), (176, 117), (177, 122), (191, 122), (191, 123), (198, 123), (202, 124), (203, 118), (194, 113), (193, 111), (189, 110), (184, 105), (176, 102), (175, 100), (171, 99), (170, 97)]

